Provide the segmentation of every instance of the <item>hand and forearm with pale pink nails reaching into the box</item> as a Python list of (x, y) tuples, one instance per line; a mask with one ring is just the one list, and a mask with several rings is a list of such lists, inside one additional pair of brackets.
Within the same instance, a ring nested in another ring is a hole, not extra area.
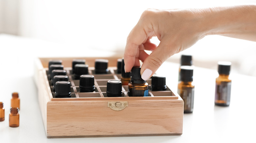
[[(140, 74), (147, 80), (167, 58), (207, 35), (256, 41), (256, 5), (145, 10), (127, 37), (125, 71), (140, 66), (141, 60)], [(153, 36), (160, 40), (158, 46), (150, 42)]]

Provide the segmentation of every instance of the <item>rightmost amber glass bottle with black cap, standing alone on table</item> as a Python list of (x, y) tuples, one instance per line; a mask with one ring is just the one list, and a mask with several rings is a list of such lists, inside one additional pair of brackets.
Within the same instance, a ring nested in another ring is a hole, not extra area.
[(215, 105), (229, 106), (231, 95), (231, 79), (229, 79), (231, 62), (218, 62), (219, 77), (216, 78)]

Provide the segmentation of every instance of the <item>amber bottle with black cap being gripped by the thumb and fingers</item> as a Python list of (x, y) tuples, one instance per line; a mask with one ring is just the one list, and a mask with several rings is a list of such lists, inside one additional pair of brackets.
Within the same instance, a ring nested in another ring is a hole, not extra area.
[(128, 84), (128, 95), (135, 96), (148, 96), (148, 83), (141, 78), (139, 66), (135, 66), (131, 71), (131, 81)]

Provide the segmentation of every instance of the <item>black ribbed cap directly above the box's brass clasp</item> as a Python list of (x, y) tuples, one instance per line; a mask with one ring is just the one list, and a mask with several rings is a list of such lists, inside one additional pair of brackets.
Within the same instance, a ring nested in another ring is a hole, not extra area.
[(122, 82), (119, 80), (109, 80), (107, 82), (107, 97), (122, 96)]

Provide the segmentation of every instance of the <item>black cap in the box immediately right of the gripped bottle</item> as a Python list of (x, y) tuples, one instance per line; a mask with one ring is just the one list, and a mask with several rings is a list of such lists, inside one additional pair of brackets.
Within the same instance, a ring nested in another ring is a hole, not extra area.
[(166, 78), (164, 76), (160, 76), (157, 74), (154, 74), (152, 76), (152, 81), (151, 81), (151, 86), (152, 86), (152, 91), (162, 91), (166, 90)]

